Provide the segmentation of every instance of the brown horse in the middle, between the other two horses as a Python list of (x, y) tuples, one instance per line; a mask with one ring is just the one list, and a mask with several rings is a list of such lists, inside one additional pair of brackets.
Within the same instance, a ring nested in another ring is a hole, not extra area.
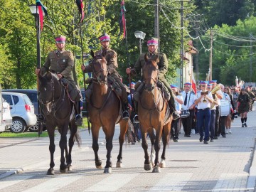
[(104, 57), (92, 55), (92, 95), (88, 102), (90, 122), (92, 123), (92, 149), (95, 152), (95, 165), (101, 169), (102, 161), (98, 156), (99, 131), (102, 127), (105, 132), (107, 161), (104, 173), (112, 172), (111, 151), (114, 137), (115, 124), (120, 124), (119, 155), (117, 156), (117, 167), (122, 167), (122, 145), (124, 144), (125, 133), (128, 122), (122, 120), (122, 105), (116, 93), (107, 85), (107, 61)]

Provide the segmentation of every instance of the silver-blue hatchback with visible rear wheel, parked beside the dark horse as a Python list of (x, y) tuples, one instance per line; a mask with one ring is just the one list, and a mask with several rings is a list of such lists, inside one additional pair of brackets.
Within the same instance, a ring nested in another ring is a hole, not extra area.
[(36, 124), (36, 114), (31, 100), (26, 94), (18, 92), (2, 92), (2, 97), (11, 107), (13, 122), (10, 130), (14, 133), (21, 133)]

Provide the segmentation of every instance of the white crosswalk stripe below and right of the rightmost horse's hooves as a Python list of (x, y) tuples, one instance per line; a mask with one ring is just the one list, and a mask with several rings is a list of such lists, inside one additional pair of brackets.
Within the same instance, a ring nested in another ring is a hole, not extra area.
[(149, 191), (181, 191), (192, 175), (190, 173), (166, 174)]

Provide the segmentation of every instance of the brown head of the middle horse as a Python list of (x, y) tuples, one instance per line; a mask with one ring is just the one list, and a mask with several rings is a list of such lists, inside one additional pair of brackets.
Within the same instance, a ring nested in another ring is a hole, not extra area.
[(107, 60), (102, 55), (95, 55), (91, 50), (92, 55), (92, 78), (100, 85), (107, 84)]

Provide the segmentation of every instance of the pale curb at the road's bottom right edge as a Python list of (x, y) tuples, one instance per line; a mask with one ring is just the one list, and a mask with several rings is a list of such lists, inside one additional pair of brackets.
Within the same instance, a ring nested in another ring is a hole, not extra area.
[(255, 191), (256, 186), (256, 139), (252, 151), (252, 164), (250, 166), (249, 177), (247, 179), (247, 191)]

